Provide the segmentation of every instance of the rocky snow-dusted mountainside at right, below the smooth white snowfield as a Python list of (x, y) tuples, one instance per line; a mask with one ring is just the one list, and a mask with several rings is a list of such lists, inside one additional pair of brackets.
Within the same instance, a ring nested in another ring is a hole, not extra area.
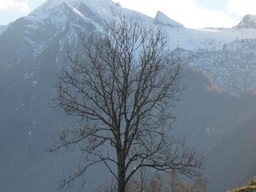
[(184, 65), (204, 70), (223, 91), (243, 92), (256, 88), (255, 43), (255, 39), (236, 40), (222, 51), (177, 49), (175, 54)]

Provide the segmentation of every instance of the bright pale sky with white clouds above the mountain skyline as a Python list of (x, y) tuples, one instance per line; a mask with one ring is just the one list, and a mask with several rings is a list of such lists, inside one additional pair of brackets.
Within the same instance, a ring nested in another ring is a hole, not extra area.
[[(45, 0), (0, 0), (0, 25), (28, 15)], [(54, 0), (50, 0), (54, 1)], [(63, 0), (65, 1), (65, 0)], [(93, 0), (91, 0), (93, 1)], [(230, 27), (243, 15), (256, 15), (256, 0), (114, 0), (154, 17), (161, 10), (189, 28)]]

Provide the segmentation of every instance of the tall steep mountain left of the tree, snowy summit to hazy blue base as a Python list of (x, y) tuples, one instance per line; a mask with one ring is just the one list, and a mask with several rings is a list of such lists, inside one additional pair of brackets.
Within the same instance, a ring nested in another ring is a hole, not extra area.
[[(76, 152), (45, 151), (52, 134), (77, 122), (49, 106), (56, 74), (67, 64), (68, 45), (76, 51), (77, 34), (99, 30), (108, 18), (118, 18), (119, 10), (111, 1), (51, 0), (15, 20), (0, 36), (0, 172), (5, 173), (0, 174), (0, 191), (58, 191), (63, 170), (79, 163)], [(86, 178), (86, 191), (110, 177), (102, 166), (88, 175), (93, 177)], [(68, 191), (83, 191), (80, 187), (78, 181)]]

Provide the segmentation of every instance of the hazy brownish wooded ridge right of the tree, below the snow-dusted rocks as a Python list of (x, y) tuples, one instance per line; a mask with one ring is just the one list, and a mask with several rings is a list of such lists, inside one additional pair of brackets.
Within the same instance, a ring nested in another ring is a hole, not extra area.
[(195, 68), (184, 68), (182, 74), (182, 84), (186, 84), (186, 88), (175, 105), (177, 119), (173, 131), (188, 138), (198, 150), (211, 150), (237, 125), (253, 118), (256, 111), (254, 92), (223, 92), (209, 75)]

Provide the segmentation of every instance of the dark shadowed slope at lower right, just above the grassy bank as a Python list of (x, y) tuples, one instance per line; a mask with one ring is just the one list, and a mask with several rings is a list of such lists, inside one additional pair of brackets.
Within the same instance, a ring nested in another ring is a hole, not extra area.
[[(256, 118), (237, 126), (205, 158), (205, 173), (211, 182), (209, 192), (243, 186), (256, 175)], [(218, 156), (217, 156), (218, 155)]]

